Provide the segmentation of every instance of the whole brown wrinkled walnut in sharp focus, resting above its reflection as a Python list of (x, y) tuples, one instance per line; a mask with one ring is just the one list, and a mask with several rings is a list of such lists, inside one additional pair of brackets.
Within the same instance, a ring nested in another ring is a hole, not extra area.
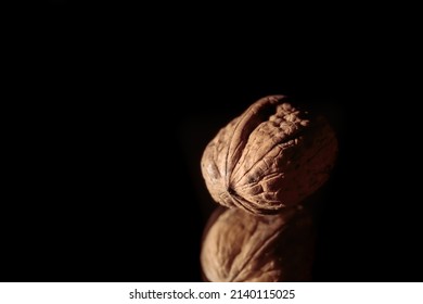
[(219, 204), (275, 214), (328, 180), (336, 152), (335, 132), (324, 117), (270, 96), (219, 130), (205, 148), (201, 169)]

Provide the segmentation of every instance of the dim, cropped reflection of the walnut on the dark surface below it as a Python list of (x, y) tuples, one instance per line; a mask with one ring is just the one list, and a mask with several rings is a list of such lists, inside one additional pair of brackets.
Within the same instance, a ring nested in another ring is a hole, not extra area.
[(309, 211), (252, 215), (219, 206), (204, 230), (204, 281), (311, 281), (315, 229)]

